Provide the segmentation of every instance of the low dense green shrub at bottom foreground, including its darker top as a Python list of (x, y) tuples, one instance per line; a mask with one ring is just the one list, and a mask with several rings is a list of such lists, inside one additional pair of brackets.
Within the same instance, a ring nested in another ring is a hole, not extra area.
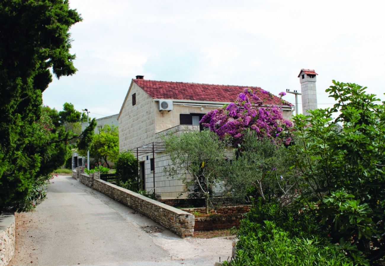
[(353, 265), (303, 212), (256, 202), (241, 221), (236, 259), (224, 265)]

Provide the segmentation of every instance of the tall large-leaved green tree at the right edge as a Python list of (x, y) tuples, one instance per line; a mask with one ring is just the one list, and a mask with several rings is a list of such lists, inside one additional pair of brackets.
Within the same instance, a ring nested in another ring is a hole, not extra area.
[(333, 108), (294, 117), (290, 149), (307, 190), (298, 200), (349, 256), (376, 263), (385, 256), (385, 102), (366, 87), (333, 83)]

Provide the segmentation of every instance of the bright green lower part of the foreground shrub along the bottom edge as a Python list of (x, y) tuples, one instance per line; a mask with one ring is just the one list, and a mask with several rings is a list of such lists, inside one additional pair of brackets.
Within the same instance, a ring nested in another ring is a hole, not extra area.
[(243, 223), (236, 259), (224, 265), (353, 265), (336, 246), (318, 238), (299, 238), (276, 226)]

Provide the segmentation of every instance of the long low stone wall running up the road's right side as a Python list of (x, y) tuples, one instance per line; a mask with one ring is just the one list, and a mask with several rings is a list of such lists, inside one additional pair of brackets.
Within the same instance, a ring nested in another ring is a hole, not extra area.
[[(77, 171), (79, 172), (80, 170)], [(194, 234), (195, 220), (194, 215), (191, 213), (100, 180), (99, 172), (95, 172), (93, 175), (81, 174), (79, 181), (94, 190), (100, 191), (115, 201), (146, 215), (182, 238)]]

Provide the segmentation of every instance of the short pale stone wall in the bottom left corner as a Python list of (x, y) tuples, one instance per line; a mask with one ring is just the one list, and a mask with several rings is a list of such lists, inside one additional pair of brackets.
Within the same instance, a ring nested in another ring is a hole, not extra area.
[(0, 216), (0, 266), (6, 266), (15, 253), (15, 216)]

